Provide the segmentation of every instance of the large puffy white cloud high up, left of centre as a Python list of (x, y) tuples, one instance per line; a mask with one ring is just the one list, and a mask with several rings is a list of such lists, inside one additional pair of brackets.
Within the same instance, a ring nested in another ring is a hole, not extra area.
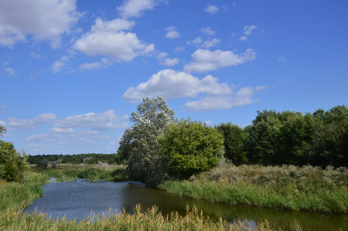
[(104, 55), (116, 60), (130, 61), (137, 56), (148, 55), (155, 50), (154, 44), (147, 45), (140, 41), (135, 33), (124, 32), (135, 25), (125, 19), (111, 21), (96, 19), (91, 30), (81, 35), (73, 48), (86, 55)]

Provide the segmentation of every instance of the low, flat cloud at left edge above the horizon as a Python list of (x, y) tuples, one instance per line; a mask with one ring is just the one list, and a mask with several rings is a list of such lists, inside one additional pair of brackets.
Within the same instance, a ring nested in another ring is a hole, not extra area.
[(34, 119), (6, 118), (6, 121), (1, 121), (0, 125), (5, 126), (8, 131), (18, 131), (21, 129), (34, 129), (36, 126), (51, 123), (57, 116), (52, 113), (39, 114)]

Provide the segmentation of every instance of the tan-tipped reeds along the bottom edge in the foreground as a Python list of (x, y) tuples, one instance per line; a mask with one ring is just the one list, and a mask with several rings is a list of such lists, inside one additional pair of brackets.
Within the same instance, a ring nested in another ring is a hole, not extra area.
[[(187, 206), (187, 215), (180, 216), (177, 212), (163, 216), (157, 212), (157, 208), (153, 206), (151, 209), (143, 209), (140, 205), (134, 208), (134, 214), (130, 215), (123, 210), (120, 214), (114, 215), (109, 213), (92, 215), (85, 217), (84, 220), (67, 220), (62, 217), (60, 220), (52, 218), (47, 219), (46, 214), (34, 215), (20, 212), (11, 212), (7, 210), (0, 214), (0, 227), (4, 230), (66, 230), (66, 231), (145, 231), (145, 230), (182, 230), (182, 231), (251, 231), (251, 228), (240, 221), (229, 224), (221, 218), (219, 221), (213, 221), (208, 216), (205, 217), (196, 207), (191, 210)], [(267, 221), (258, 225), (255, 231), (282, 231), (282, 228), (274, 228)], [(292, 225), (293, 231), (302, 230), (301, 225), (294, 221)]]

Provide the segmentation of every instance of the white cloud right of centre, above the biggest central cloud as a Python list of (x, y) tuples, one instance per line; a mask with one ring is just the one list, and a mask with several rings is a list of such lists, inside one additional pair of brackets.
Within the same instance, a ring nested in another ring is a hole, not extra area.
[(222, 67), (236, 66), (248, 60), (256, 58), (256, 53), (253, 49), (248, 48), (244, 53), (235, 54), (232, 51), (210, 51), (198, 49), (191, 55), (193, 60), (184, 65), (184, 71), (191, 72), (208, 72)]

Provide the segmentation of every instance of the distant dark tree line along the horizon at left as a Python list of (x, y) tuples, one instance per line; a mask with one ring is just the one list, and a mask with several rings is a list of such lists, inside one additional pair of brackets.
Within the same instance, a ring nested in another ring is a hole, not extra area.
[(96, 154), (96, 153), (88, 153), (88, 154), (74, 154), (74, 155), (36, 155), (29, 156), (28, 162), (30, 164), (41, 164), (43, 159), (46, 159), (49, 162), (56, 161), (57, 159), (61, 160), (63, 164), (81, 164), (82, 160), (85, 158), (92, 158), (91, 164), (98, 163), (98, 161), (103, 161), (109, 164), (116, 163), (120, 164), (121, 159), (117, 153), (113, 154)]

